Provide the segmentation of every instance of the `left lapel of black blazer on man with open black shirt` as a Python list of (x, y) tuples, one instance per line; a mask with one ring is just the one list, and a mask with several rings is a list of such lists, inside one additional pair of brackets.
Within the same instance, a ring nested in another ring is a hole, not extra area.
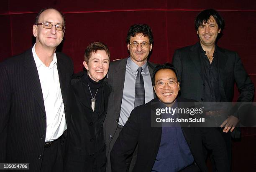
[(201, 60), (200, 60), (200, 54), (198, 53), (199, 51), (199, 43), (193, 45), (190, 48), (190, 52), (189, 52), (189, 58), (192, 60), (192, 62), (195, 65), (195, 68), (197, 69), (197, 72), (199, 73), (199, 75), (202, 77), (202, 67), (201, 67)]

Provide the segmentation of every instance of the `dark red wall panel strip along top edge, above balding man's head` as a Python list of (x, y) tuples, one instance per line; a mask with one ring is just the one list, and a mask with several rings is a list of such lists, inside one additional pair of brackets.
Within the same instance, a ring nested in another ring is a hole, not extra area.
[[(9, 0), (12, 12), (38, 12), (44, 7), (56, 7), (62, 12), (122, 11), (166, 9), (166, 0)], [(23, 5), (26, 3), (26, 5)]]

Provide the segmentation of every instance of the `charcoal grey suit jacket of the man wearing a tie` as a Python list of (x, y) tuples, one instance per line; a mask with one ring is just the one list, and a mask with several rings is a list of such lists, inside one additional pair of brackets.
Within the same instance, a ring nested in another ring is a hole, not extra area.
[[(109, 97), (108, 112), (103, 125), (107, 155), (110, 154), (110, 144), (114, 144), (111, 141), (115, 135), (120, 117), (127, 59), (111, 62), (108, 70), (108, 84), (111, 87), (111, 94)], [(153, 70), (156, 65), (149, 61), (147, 61), (147, 65), (152, 79)]]

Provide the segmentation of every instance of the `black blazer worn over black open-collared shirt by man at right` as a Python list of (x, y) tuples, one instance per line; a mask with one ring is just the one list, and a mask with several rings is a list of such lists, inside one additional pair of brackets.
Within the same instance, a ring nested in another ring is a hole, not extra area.
[[(250, 102), (254, 95), (254, 85), (236, 52), (217, 47), (219, 88), (223, 102), (232, 102), (234, 82), (240, 95), (238, 102)], [(204, 101), (204, 85), (200, 60), (200, 43), (183, 47), (174, 52), (172, 64), (181, 77), (180, 96)], [(235, 114), (234, 114), (235, 115)], [(236, 115), (235, 115), (236, 116)]]

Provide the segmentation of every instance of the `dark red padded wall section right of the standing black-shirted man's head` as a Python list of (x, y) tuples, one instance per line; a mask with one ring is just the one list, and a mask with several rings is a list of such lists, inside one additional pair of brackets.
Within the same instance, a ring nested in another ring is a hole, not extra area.
[[(221, 12), (226, 22), (218, 45), (238, 52), (248, 74), (256, 74), (256, 12)], [(254, 64), (254, 65), (252, 65)]]

